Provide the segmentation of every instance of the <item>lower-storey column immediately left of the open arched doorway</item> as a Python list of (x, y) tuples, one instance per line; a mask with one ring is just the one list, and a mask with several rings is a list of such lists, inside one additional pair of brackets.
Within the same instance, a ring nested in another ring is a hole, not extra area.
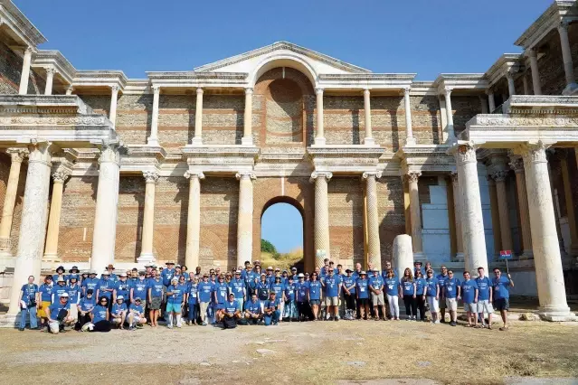
[(237, 173), (239, 180), (239, 216), (237, 219), (237, 267), (252, 260), (253, 252), (253, 180), (252, 171)]

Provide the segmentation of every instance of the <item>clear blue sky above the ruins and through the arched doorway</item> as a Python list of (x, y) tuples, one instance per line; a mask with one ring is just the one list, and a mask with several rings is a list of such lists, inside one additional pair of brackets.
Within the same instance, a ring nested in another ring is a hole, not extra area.
[[(374, 72), (485, 72), (550, 0), (14, 0), (79, 70), (194, 67), (285, 40)], [(263, 215), (263, 238), (301, 246), (298, 211)]]

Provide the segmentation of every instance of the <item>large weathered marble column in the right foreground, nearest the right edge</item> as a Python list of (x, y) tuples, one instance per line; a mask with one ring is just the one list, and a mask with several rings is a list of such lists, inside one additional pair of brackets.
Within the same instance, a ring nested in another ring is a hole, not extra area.
[(535, 280), (540, 302), (538, 314), (550, 321), (565, 321), (575, 318), (575, 315), (566, 303), (552, 192), (545, 188), (550, 184), (545, 145), (542, 142), (526, 144), (522, 146), (521, 153), (526, 170)]

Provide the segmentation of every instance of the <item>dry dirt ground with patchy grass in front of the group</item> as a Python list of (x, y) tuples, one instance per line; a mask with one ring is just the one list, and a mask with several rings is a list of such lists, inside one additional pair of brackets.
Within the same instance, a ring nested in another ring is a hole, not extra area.
[(488, 384), (504, 383), (510, 376), (575, 379), (577, 338), (578, 323), (545, 322), (513, 322), (507, 332), (408, 321), (224, 331), (147, 326), (134, 332), (59, 335), (2, 329), (0, 382), (335, 384), (406, 378)]

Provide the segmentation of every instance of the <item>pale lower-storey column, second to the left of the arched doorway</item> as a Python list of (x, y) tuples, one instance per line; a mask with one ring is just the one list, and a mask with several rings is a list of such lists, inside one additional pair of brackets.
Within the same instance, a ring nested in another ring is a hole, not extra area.
[(189, 180), (189, 206), (186, 217), (185, 264), (191, 271), (199, 266), (201, 248), (201, 180), (204, 174), (200, 171), (187, 171)]

